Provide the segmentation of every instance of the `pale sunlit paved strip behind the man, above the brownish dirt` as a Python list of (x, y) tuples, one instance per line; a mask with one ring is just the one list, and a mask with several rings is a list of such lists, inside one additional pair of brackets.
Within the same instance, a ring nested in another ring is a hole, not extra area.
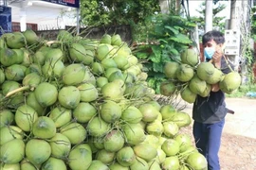
[[(226, 104), (235, 113), (227, 115), (224, 132), (256, 139), (256, 99), (226, 98)], [(184, 111), (192, 114), (192, 104)]]

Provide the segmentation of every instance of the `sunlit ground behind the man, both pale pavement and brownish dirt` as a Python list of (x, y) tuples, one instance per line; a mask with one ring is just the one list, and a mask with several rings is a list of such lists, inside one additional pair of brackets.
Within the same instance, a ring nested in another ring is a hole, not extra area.
[[(227, 98), (228, 114), (219, 152), (221, 170), (256, 170), (256, 99)], [(192, 112), (188, 105), (186, 112)], [(192, 126), (184, 132), (192, 134)]]

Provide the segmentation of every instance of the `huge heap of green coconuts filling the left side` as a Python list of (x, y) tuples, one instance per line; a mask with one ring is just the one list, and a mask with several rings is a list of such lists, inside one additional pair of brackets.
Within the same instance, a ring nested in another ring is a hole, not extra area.
[[(142, 67), (119, 34), (92, 40), (60, 30), (52, 41), (28, 29), (4, 34), (0, 170), (207, 169), (180, 132), (190, 115), (155, 101)], [(192, 73), (182, 78), (193, 78), (191, 86), (199, 83)]]

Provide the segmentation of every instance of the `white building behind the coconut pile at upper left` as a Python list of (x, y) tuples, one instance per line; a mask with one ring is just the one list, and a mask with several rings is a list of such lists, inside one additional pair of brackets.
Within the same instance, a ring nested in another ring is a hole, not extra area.
[(34, 26), (37, 30), (77, 26), (77, 8), (41, 0), (0, 0), (0, 5), (11, 8), (12, 27), (18, 26), (21, 31), (27, 26)]

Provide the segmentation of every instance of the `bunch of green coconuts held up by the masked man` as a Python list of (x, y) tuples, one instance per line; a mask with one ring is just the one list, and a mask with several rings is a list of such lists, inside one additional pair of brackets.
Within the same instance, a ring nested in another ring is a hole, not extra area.
[(168, 80), (161, 83), (160, 93), (170, 96), (180, 93), (183, 100), (193, 103), (197, 95), (210, 95), (211, 85), (219, 83), (220, 90), (232, 93), (241, 85), (241, 76), (233, 71), (225, 75), (211, 62), (200, 62), (194, 49), (184, 50), (177, 61), (166, 62), (164, 74)]

